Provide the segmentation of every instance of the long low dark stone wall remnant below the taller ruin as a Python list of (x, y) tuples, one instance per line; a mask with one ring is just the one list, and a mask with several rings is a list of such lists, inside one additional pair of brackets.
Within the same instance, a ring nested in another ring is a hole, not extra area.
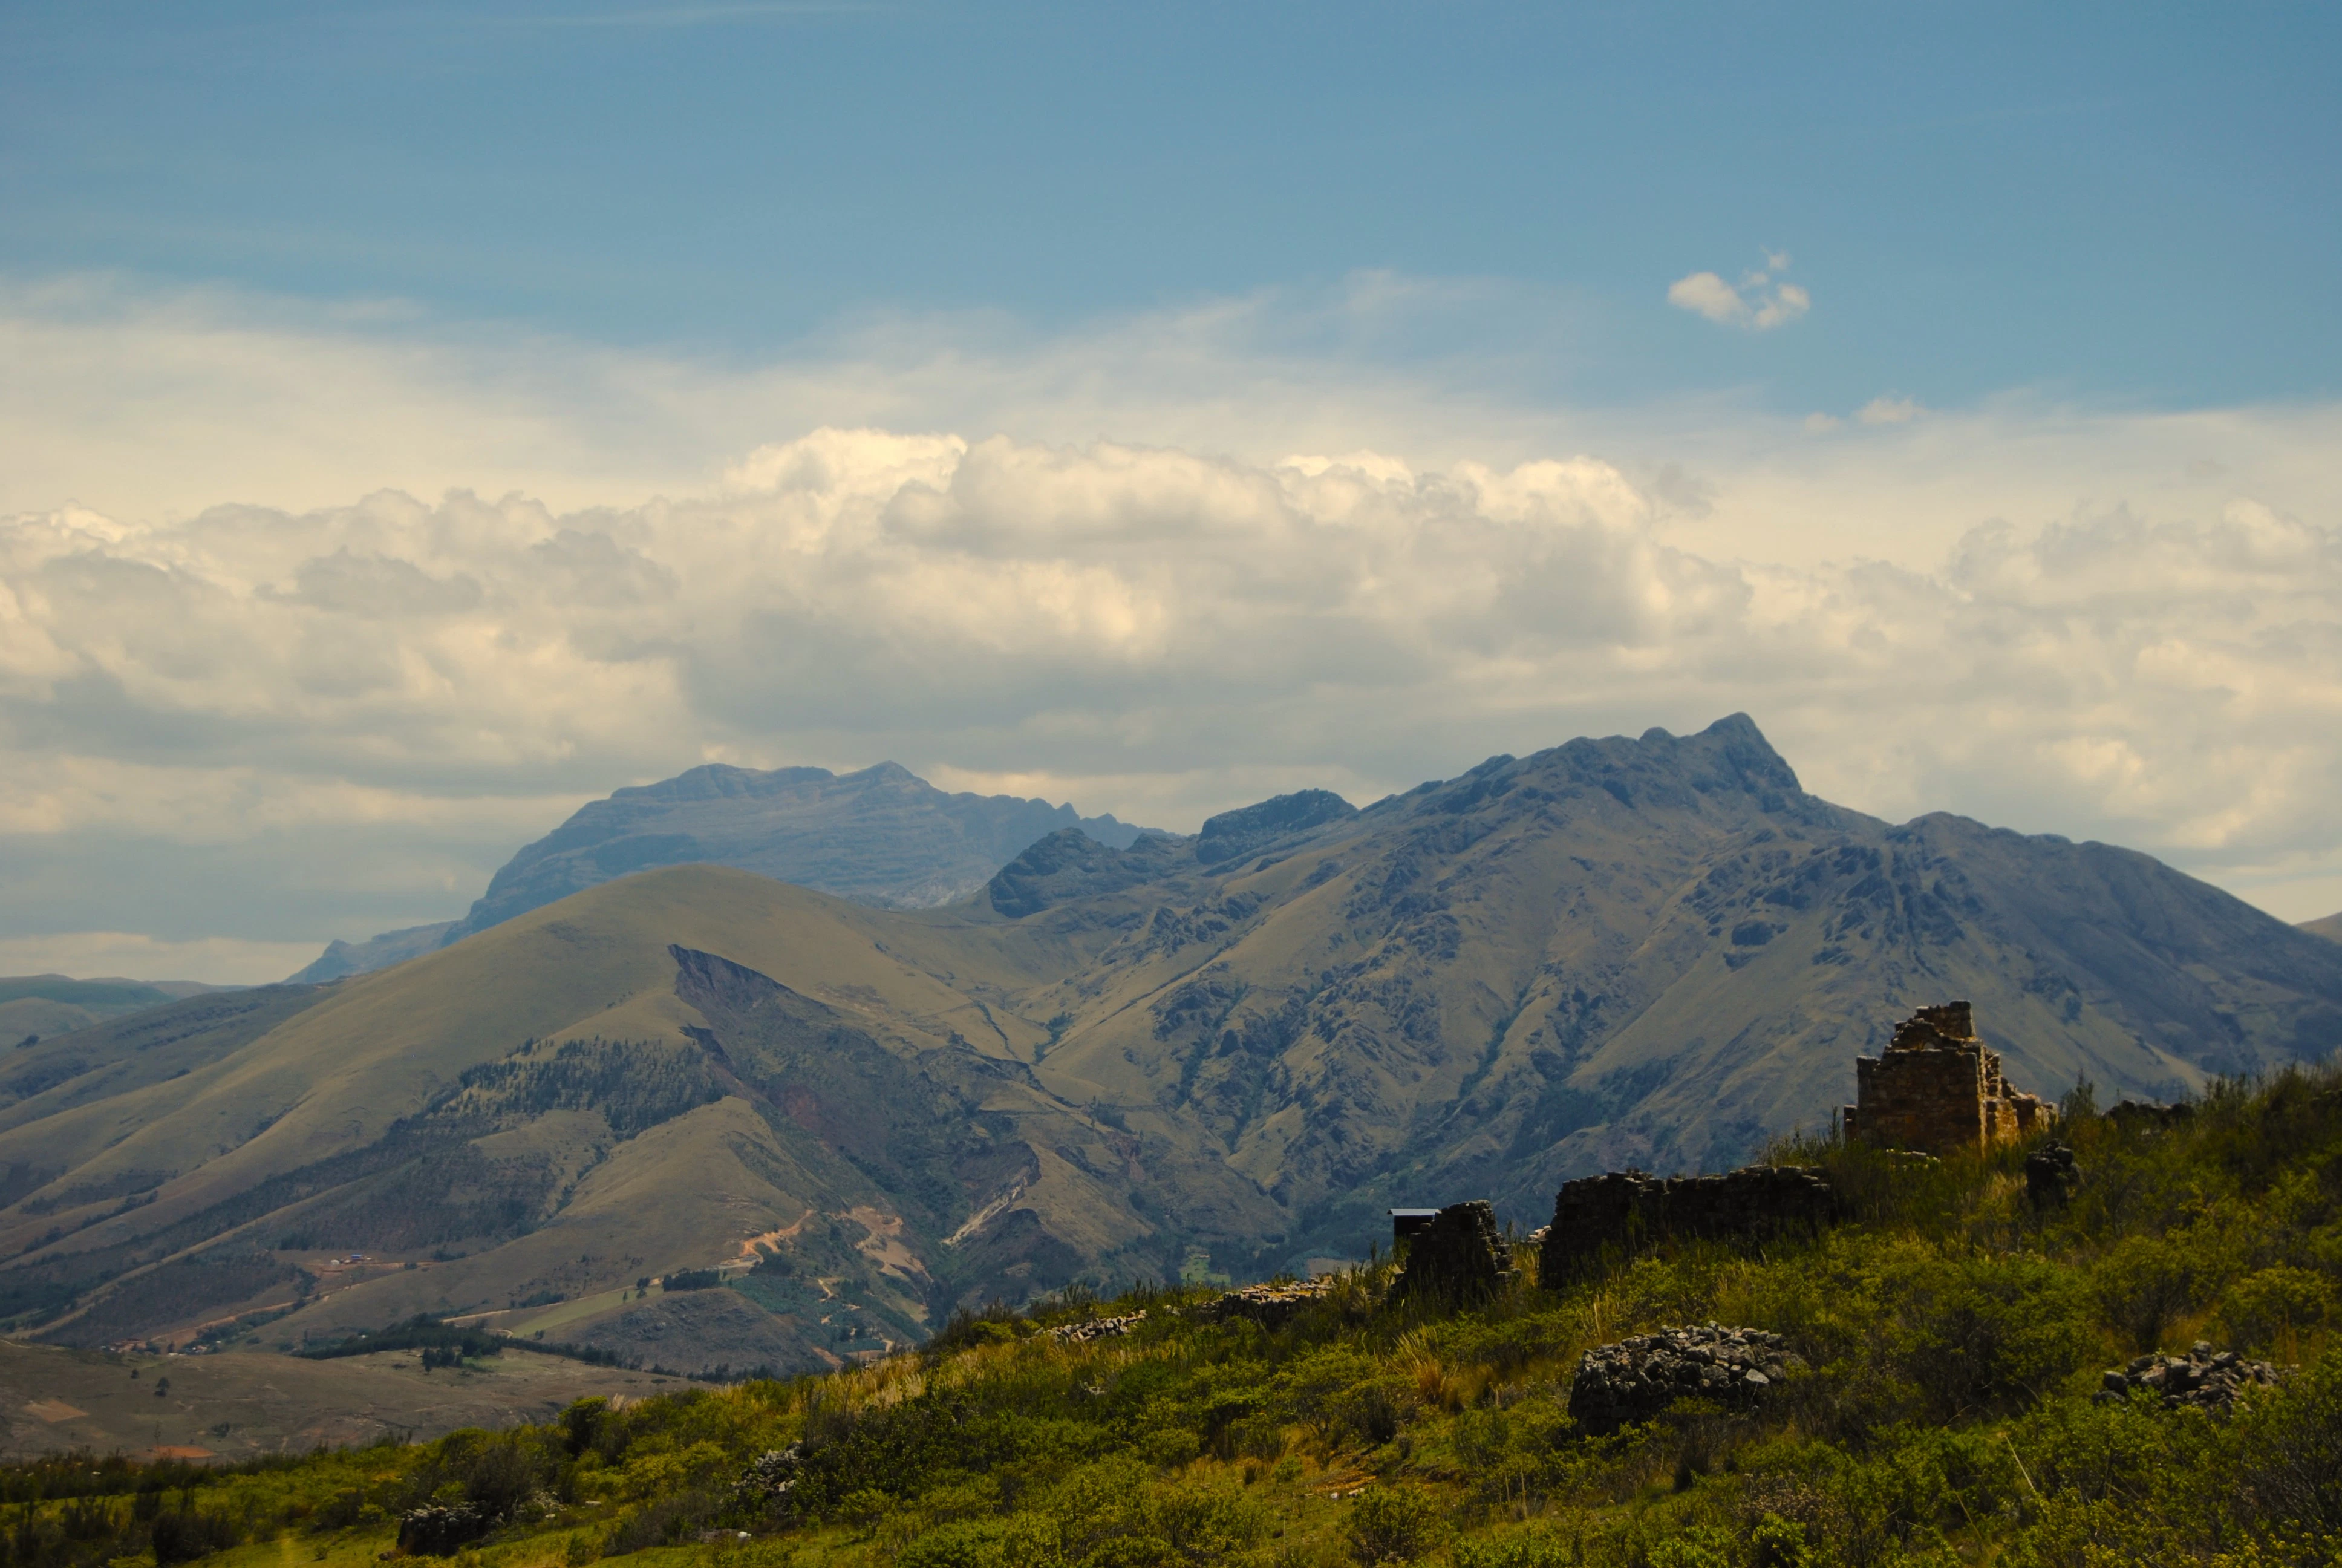
[(1564, 1181), (1553, 1195), (1536, 1277), (1560, 1289), (1609, 1254), (1663, 1238), (1756, 1240), (1817, 1230), (1838, 1216), (1829, 1179), (1810, 1165), (1749, 1165), (1726, 1177), (1646, 1177), (1614, 1170)]

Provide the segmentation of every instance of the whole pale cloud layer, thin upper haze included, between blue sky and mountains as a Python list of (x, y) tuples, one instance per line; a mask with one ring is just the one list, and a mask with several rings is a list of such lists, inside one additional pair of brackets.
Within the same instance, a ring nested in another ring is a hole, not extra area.
[[(98, 312), (33, 366), (56, 408), (0, 391), (35, 469), (37, 431), (84, 443), (54, 473), (152, 455), (124, 504), (0, 520), (0, 930), (265, 949), (445, 919), (578, 799), (696, 762), (895, 757), (1192, 827), (1733, 708), (1860, 809), (2342, 902), (2342, 410), (2005, 398), (1806, 441), (1475, 403), (1262, 349), (1248, 312), (761, 370)], [(129, 373), (150, 338), (185, 382), (101, 410), (73, 356), (108, 340)], [(311, 373), (344, 445), (267, 417)], [(958, 413), (707, 445), (820, 403)], [(375, 485), (372, 441), (438, 499)], [(248, 977), (155, 963), (110, 961)]]

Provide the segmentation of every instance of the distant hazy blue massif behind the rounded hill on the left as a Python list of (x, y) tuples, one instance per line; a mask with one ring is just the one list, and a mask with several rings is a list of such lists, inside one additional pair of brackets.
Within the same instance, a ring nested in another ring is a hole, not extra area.
[(698, 766), (583, 806), (525, 846), (459, 921), (333, 942), (293, 982), (405, 963), (529, 909), (660, 865), (738, 865), (881, 909), (967, 898), (1042, 834), (1124, 846), (1138, 827), (1014, 795), (946, 795), (895, 762), (829, 769)]

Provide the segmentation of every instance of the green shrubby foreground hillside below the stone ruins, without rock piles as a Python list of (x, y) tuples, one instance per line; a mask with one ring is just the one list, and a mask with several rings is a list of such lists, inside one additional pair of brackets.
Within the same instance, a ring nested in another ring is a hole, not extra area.
[[(2342, 1071), (2216, 1085), (2169, 1125), (2084, 1113), (2068, 1141), (2084, 1184), (2049, 1212), (2021, 1151), (1913, 1167), (1789, 1144), (1775, 1158), (1829, 1167), (1848, 1223), (1464, 1310), (1386, 1301), (1389, 1266), (1276, 1331), (1180, 1315), (1211, 1291), (1075, 1291), (960, 1317), (920, 1355), (518, 1432), (211, 1472), (21, 1465), (0, 1568), (372, 1563), (422, 1507), (485, 1530), (459, 1568), (2342, 1559)], [(1138, 1310), (1124, 1336), (1052, 1331)], [(1710, 1320), (1787, 1336), (1810, 1371), (1754, 1413), (1571, 1425), (1581, 1350)], [(2232, 1416), (2094, 1402), (2105, 1366), (2199, 1338), (2298, 1371)]]

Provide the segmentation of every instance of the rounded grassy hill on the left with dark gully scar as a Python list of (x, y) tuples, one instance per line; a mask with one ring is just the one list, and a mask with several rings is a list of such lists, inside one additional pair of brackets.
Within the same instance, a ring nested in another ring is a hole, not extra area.
[[(1155, 1238), (1122, 1134), (1023, 1064), (1047, 1027), (1009, 998), (1068, 956), (1042, 928), (895, 919), (721, 867), (604, 884), (0, 1132), (0, 1160), (89, 1198), (7, 1214), (23, 1252), (0, 1305), (77, 1343), (279, 1305), (279, 1334), (337, 1334), (611, 1296), (813, 1226), (820, 1256), (766, 1291), (747, 1359), (904, 1343), (960, 1296)], [(1215, 1184), (1246, 1188), (1213, 1167), (1190, 1186)], [(302, 1280), (354, 1247), (415, 1268)], [(649, 1308), (609, 1308), (567, 1331), (625, 1345)], [(689, 1303), (663, 1313), (689, 1338)]]

